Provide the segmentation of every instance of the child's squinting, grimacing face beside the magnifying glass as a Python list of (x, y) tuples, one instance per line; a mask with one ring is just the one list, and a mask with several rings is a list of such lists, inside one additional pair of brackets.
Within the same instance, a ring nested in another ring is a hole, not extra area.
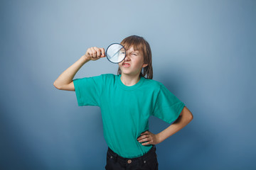
[(148, 64), (144, 64), (143, 54), (139, 50), (134, 50), (131, 47), (127, 50), (127, 56), (122, 62), (118, 63), (119, 68), (122, 71), (122, 74), (127, 74), (135, 76), (140, 74), (143, 67), (146, 67)]

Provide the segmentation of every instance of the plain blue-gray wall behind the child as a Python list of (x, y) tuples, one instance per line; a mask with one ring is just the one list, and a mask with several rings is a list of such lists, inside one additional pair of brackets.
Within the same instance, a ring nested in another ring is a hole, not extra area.
[[(1, 1), (0, 169), (104, 169), (100, 108), (53, 81), (88, 47), (148, 40), (154, 79), (194, 119), (159, 169), (255, 169), (256, 1)], [(106, 58), (75, 78), (117, 73)], [(151, 117), (149, 130), (169, 125)]]

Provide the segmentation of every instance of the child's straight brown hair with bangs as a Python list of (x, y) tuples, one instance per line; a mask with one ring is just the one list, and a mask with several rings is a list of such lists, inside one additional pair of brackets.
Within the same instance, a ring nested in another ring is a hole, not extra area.
[[(153, 67), (152, 67), (152, 55), (149, 42), (146, 42), (144, 38), (137, 35), (131, 35), (122, 40), (121, 45), (124, 46), (126, 50), (129, 50), (130, 47), (133, 47), (134, 50), (139, 50), (143, 54), (144, 63), (148, 64), (146, 67), (142, 68), (140, 77), (146, 79), (153, 79)], [(121, 69), (118, 67), (117, 75), (122, 74)]]

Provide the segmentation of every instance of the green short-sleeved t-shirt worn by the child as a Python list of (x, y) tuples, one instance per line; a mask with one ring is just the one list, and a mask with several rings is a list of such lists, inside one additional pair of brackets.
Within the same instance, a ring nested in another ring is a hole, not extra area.
[(141, 77), (126, 86), (121, 75), (102, 74), (74, 79), (78, 106), (99, 106), (107, 145), (121, 157), (140, 157), (152, 145), (142, 145), (137, 137), (149, 130), (149, 116), (166, 123), (178, 118), (185, 106), (159, 81)]

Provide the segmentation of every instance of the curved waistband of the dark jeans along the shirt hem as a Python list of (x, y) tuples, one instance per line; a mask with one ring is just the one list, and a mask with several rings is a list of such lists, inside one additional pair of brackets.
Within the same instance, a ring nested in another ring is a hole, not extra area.
[(147, 158), (150, 157), (152, 153), (156, 152), (156, 145), (152, 145), (151, 149), (149, 149), (149, 152), (146, 152), (146, 154), (142, 155), (141, 157), (135, 157), (135, 158), (124, 158), (124, 157), (121, 157), (118, 154), (116, 154), (114, 151), (112, 151), (112, 149), (110, 149), (110, 147), (108, 147), (107, 152), (110, 152), (110, 154), (112, 154), (112, 156), (115, 159), (119, 159), (122, 162), (127, 162), (127, 160), (129, 160), (129, 159), (132, 160), (132, 162), (133, 161), (137, 161), (138, 159), (144, 161), (144, 160), (147, 160)]

